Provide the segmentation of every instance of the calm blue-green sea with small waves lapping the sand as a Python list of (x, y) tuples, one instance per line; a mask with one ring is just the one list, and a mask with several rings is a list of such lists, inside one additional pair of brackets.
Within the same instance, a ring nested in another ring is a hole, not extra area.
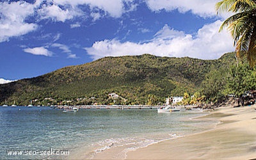
[(127, 152), (163, 140), (211, 129), (217, 122), (194, 119), (203, 111), (157, 113), (156, 109), (80, 109), (0, 106), (0, 159), (68, 159), (122, 148)]

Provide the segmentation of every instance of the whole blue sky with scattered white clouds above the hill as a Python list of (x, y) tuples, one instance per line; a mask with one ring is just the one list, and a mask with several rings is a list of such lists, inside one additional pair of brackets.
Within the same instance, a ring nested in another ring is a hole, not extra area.
[(234, 51), (220, 0), (0, 0), (0, 84), (106, 56)]

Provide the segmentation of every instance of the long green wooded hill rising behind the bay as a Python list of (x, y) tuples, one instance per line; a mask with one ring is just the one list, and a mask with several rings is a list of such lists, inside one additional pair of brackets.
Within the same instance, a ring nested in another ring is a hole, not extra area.
[(150, 54), (106, 57), (84, 65), (64, 67), (43, 76), (0, 85), (0, 104), (28, 105), (111, 104), (109, 93), (124, 99), (116, 104), (146, 104), (151, 97), (164, 102), (170, 95), (200, 90), (205, 74), (212, 69), (227, 68), (236, 61), (234, 53), (218, 60), (167, 58)]

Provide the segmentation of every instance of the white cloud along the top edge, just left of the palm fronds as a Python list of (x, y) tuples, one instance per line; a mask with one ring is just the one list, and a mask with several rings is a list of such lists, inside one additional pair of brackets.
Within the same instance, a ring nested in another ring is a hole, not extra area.
[(179, 10), (181, 13), (191, 11), (200, 17), (213, 17), (216, 15), (215, 4), (220, 0), (145, 0), (152, 11)]

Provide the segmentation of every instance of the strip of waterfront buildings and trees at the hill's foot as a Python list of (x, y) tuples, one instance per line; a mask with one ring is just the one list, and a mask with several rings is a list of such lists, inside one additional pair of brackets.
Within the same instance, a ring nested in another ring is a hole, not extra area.
[[(100, 104), (97, 102), (97, 99), (95, 97), (90, 97), (89, 99), (86, 98), (79, 98), (75, 100), (63, 100), (61, 102), (57, 102), (57, 100), (52, 99), (51, 97), (45, 98), (43, 101), (40, 102), (38, 99), (30, 100), (30, 104), (28, 106), (37, 106), (37, 107), (43, 107), (43, 106), (49, 106), (52, 108), (70, 108), (70, 107), (78, 107), (78, 108), (122, 108), (120, 106), (126, 106), (127, 109), (131, 108), (161, 108), (163, 106), (186, 106), (188, 108), (202, 108), (202, 109), (212, 109), (212, 108), (218, 108), (220, 106), (228, 106), (232, 105), (234, 107), (239, 106), (248, 106), (255, 104), (256, 102), (256, 90), (251, 90), (248, 92), (244, 92), (243, 96), (241, 98), (236, 98), (234, 95), (227, 95), (227, 100), (222, 102), (221, 104), (218, 104), (218, 106), (214, 104), (205, 104), (204, 96), (198, 97), (198, 93), (195, 93), (194, 95), (191, 95), (189, 97), (188, 93), (184, 93), (184, 96), (179, 97), (167, 97), (165, 99), (165, 102), (163, 104), (159, 105), (150, 105), (150, 104), (116, 104), (118, 100), (122, 100), (122, 102), (126, 102), (127, 99), (124, 97), (121, 97), (120, 95), (116, 93), (109, 93), (108, 94), (108, 101), (111, 102), (109, 104)], [(83, 103), (86, 102), (86, 100), (91, 100), (91, 104), (84, 105)], [(4, 107), (11, 106), (4, 104)], [(15, 101), (12, 104), (12, 107), (15, 107)]]

